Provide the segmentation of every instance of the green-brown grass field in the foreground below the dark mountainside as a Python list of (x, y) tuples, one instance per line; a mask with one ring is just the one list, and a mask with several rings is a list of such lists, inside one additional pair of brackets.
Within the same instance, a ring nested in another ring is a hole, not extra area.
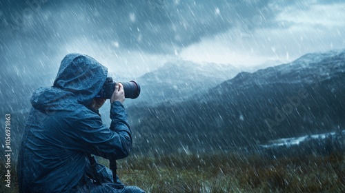
[[(101, 163), (108, 164), (106, 160)], [(130, 156), (118, 161), (120, 179), (147, 192), (345, 192), (345, 156), (263, 159), (235, 153)], [(0, 190), (4, 187), (1, 163)]]

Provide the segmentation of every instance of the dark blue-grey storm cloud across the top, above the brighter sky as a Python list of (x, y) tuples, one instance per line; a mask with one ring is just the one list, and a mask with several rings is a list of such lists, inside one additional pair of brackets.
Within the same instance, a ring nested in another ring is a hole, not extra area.
[[(270, 1), (5, 1), (2, 37), (68, 42), (83, 37), (144, 52), (168, 52), (234, 26), (271, 26)], [(8, 41), (12, 38), (7, 39)]]

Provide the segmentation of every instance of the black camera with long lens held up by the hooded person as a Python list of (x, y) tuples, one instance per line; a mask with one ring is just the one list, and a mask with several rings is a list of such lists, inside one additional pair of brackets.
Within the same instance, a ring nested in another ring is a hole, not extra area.
[[(138, 83), (136, 83), (135, 81), (120, 82), (120, 83), (124, 85), (125, 98), (137, 99), (137, 97), (140, 94), (140, 86)], [(106, 82), (103, 84), (101, 91), (99, 91), (96, 97), (99, 97), (102, 99), (110, 99), (114, 90), (115, 90), (115, 82), (112, 80), (111, 77), (107, 77)]]

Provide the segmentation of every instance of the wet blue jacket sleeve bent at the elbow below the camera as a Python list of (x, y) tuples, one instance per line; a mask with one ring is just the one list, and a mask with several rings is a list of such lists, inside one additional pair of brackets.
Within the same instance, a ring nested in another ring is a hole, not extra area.
[(92, 111), (80, 118), (72, 126), (76, 129), (73, 138), (79, 150), (106, 159), (122, 159), (129, 155), (132, 137), (126, 110), (119, 101), (111, 104), (110, 128), (103, 125), (101, 117)]

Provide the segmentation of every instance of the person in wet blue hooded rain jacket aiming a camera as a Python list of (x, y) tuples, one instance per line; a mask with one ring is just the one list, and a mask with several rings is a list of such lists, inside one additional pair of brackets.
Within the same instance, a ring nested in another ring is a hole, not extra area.
[(105, 99), (95, 96), (107, 74), (92, 57), (68, 54), (53, 86), (34, 92), (18, 157), (20, 192), (144, 192), (112, 181), (99, 163), (97, 172), (108, 180), (97, 182), (92, 173), (90, 154), (123, 159), (132, 143), (120, 83), (110, 99), (110, 128), (101, 121), (98, 109)]

